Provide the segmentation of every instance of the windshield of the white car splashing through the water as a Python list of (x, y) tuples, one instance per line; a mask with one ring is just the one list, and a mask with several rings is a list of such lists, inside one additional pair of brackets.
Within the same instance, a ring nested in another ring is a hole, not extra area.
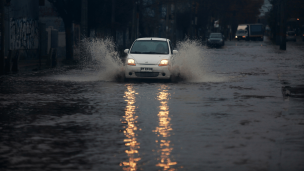
[(133, 54), (169, 54), (167, 41), (139, 40), (130, 51)]

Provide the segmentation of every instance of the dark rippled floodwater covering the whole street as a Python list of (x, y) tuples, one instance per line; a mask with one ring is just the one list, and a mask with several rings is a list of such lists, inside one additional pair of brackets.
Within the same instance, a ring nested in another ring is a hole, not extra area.
[(303, 86), (303, 47), (203, 46), (185, 58), (202, 57), (200, 79), (178, 83), (3, 76), (0, 170), (303, 170), (304, 100), (282, 94)]

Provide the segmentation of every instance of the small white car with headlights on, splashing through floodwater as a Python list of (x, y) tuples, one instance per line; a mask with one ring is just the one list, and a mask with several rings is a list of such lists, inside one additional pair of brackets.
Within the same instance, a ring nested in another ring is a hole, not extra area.
[(125, 78), (127, 79), (173, 79), (173, 50), (169, 39), (139, 38), (127, 53)]

